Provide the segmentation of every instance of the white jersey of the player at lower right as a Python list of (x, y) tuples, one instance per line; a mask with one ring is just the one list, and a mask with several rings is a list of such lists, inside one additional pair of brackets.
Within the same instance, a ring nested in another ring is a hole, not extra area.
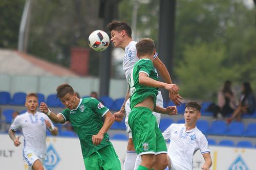
[(197, 150), (210, 153), (208, 141), (197, 127), (186, 131), (185, 124), (172, 124), (163, 132), (163, 137), (166, 141), (170, 139), (168, 156), (175, 170), (193, 169), (193, 155)]

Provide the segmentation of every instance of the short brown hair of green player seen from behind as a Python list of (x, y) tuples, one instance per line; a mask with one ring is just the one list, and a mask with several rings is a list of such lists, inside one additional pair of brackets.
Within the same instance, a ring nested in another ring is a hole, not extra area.
[(142, 55), (151, 55), (155, 50), (154, 40), (151, 38), (143, 38), (139, 42), (136, 43), (136, 50), (138, 53), (138, 57)]

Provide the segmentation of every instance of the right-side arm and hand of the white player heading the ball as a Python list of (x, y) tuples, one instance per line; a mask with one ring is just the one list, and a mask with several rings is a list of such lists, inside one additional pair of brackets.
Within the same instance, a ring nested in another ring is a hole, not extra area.
[[(159, 59), (158, 56), (156, 56), (155, 59), (153, 60), (153, 64), (154, 64), (154, 67), (159, 72), (159, 74), (161, 75), (161, 77), (163, 78), (164, 82), (168, 84), (173, 84), (166, 66)], [(178, 93), (174, 94), (172, 92), (169, 92), (169, 99), (172, 100), (174, 104), (178, 106), (181, 104), (182, 97)]]

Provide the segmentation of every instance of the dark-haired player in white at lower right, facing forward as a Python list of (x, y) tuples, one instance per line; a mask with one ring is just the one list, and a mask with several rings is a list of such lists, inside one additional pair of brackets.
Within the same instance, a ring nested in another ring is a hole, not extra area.
[(170, 140), (167, 156), (170, 170), (193, 169), (193, 155), (197, 150), (204, 157), (202, 169), (208, 170), (212, 164), (208, 141), (196, 127), (201, 117), (200, 109), (198, 102), (188, 102), (184, 113), (185, 124), (172, 124), (163, 132), (164, 139)]

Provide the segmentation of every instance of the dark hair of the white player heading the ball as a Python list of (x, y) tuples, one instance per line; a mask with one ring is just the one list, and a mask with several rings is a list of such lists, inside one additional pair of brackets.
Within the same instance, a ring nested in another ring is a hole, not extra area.
[(127, 35), (132, 38), (132, 28), (129, 26), (129, 24), (125, 21), (112, 21), (106, 26), (106, 29), (111, 32), (112, 30), (114, 31), (126, 31)]

